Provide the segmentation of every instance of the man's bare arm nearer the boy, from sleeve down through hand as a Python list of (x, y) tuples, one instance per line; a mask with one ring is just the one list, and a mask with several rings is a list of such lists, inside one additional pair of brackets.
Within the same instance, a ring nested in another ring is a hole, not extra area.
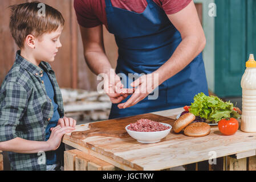
[(93, 28), (80, 26), (80, 31), (84, 46), (84, 58), (88, 67), (96, 75), (104, 73), (104, 90), (108, 94), (112, 103), (123, 101), (129, 94), (117, 93), (116, 90), (123, 88), (120, 77), (115, 73), (111, 75), (111, 64), (105, 55), (103, 43), (102, 25)]

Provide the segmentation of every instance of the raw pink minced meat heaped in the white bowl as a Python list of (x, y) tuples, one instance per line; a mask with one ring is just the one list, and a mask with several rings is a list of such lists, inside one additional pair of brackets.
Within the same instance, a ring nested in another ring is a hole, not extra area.
[(140, 132), (152, 132), (168, 130), (170, 127), (150, 119), (139, 119), (136, 123), (131, 123), (127, 129)]

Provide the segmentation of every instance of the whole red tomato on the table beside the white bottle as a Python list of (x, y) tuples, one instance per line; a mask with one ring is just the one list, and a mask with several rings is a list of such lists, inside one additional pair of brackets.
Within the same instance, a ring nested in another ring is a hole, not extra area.
[(224, 135), (233, 135), (238, 130), (238, 121), (235, 118), (221, 119), (218, 122), (218, 128)]

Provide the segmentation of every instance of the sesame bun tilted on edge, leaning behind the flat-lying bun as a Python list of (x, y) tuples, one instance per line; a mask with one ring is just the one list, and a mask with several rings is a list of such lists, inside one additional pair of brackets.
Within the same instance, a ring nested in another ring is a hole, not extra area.
[(192, 113), (181, 115), (181, 117), (174, 122), (173, 131), (175, 133), (180, 133), (180, 131), (194, 121), (194, 119), (196, 119), (196, 117)]

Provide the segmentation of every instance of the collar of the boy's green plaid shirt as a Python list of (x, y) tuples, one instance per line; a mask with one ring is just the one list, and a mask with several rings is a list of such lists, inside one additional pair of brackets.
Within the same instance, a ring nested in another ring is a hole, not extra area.
[(50, 65), (48, 66), (48, 64), (45, 63), (44, 61), (41, 61), (41, 63), (40, 63), (42, 68), (37, 67), (36, 65), (30, 63), (28, 60), (26, 60), (24, 57), (21, 56), (21, 50), (17, 51), (15, 61), (16, 61), (16, 63), (21, 65), (23, 68), (25, 68), (27, 71), (31, 72), (36, 77), (38, 77), (40, 74), (43, 73), (42, 68), (45, 68), (44, 70), (47, 72), (52, 71)]

